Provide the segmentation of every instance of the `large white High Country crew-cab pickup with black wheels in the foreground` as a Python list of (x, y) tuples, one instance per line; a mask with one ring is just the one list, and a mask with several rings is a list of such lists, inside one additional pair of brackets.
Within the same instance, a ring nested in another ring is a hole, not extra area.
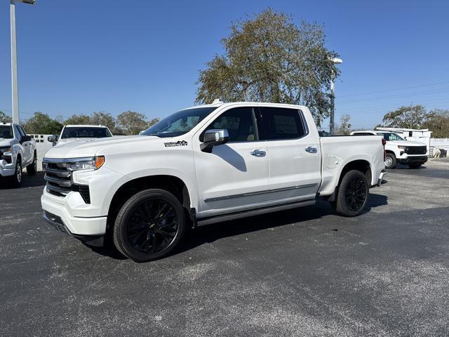
[(320, 138), (309, 109), (215, 103), (140, 136), (69, 143), (43, 159), (44, 219), (128, 258), (169, 253), (196, 227), (330, 201), (357, 216), (384, 176), (382, 136)]

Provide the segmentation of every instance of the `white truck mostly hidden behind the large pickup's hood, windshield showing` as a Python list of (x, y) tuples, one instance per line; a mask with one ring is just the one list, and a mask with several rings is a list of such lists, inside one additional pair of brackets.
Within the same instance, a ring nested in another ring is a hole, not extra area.
[(77, 142), (79, 140), (93, 140), (112, 137), (109, 128), (104, 125), (65, 125), (60, 136), (48, 136), (48, 141), (56, 145)]

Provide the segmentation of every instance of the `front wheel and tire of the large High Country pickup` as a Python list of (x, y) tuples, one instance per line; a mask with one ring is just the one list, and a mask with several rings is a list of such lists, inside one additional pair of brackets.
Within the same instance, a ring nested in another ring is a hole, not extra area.
[(134, 194), (114, 221), (114, 246), (136, 262), (168, 255), (180, 242), (186, 227), (185, 212), (176, 197), (165, 190)]

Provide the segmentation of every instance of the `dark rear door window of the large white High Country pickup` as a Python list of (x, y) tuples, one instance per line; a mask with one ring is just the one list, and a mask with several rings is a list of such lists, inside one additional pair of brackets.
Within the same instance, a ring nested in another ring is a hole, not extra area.
[(279, 107), (260, 107), (267, 140), (295, 139), (306, 134), (300, 112)]

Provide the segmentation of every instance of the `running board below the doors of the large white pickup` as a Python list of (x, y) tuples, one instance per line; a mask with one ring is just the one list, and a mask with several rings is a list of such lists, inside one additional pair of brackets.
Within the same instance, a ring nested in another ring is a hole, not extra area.
[(281, 204), (276, 206), (263, 207), (260, 209), (250, 209), (236, 213), (222, 214), (220, 216), (209, 216), (207, 218), (196, 218), (196, 226), (210, 225), (211, 223), (222, 223), (224, 221), (247, 218), (249, 216), (260, 216), (260, 214), (284, 211), (286, 209), (295, 209), (297, 207), (311, 206), (316, 203), (316, 199), (297, 201), (290, 204)]

